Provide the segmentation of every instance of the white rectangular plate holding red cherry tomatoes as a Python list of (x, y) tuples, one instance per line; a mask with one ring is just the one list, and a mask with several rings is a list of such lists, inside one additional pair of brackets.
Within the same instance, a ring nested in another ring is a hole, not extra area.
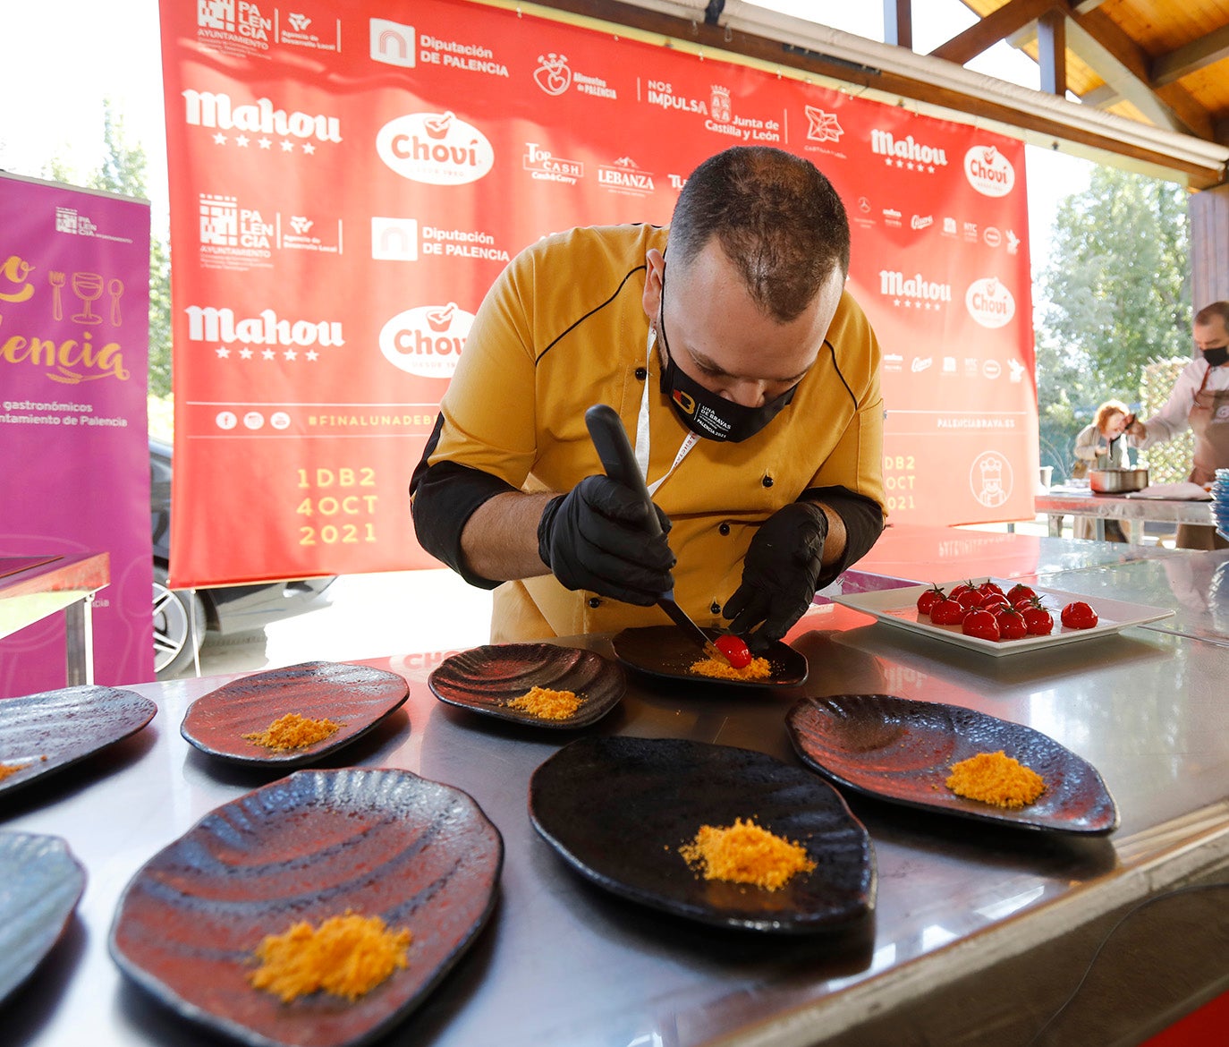
[[(986, 579), (982, 576), (944, 581), (939, 584), (939, 587), (945, 592), (950, 592), (954, 586), (968, 580), (975, 585), (981, 585), (981, 582), (987, 580), (994, 581), (1003, 587), (1004, 592), (1013, 585), (1020, 584), (1019, 579)], [(1024, 584), (1029, 585), (1029, 582)], [(1143, 625), (1147, 622), (1158, 622), (1161, 618), (1174, 616), (1172, 611), (1164, 607), (1147, 607), (1142, 603), (1125, 603), (1121, 600), (1105, 600), (1104, 597), (1090, 598), (1078, 592), (1067, 592), (1062, 589), (1041, 589), (1040, 586), (1030, 585), (1029, 587), (1041, 597), (1042, 606), (1053, 616), (1054, 630), (1047, 637), (1024, 637), (1019, 640), (983, 640), (978, 637), (966, 637), (960, 632), (960, 625), (934, 625), (930, 623), (929, 617), (925, 614), (919, 616), (917, 600), (929, 587), (929, 585), (908, 585), (903, 589), (884, 589), (879, 592), (833, 596), (832, 601), (846, 607), (852, 607), (854, 611), (873, 614), (887, 625), (896, 625), (911, 633), (933, 637), (946, 644), (955, 644), (968, 650), (994, 655), (995, 657), (1023, 654), (1037, 648), (1073, 644), (1078, 640), (1091, 640), (1095, 637), (1109, 637), (1129, 625)], [(1097, 623), (1091, 629), (1068, 629), (1059, 622), (1059, 612), (1075, 600), (1083, 600), (1096, 612)]]

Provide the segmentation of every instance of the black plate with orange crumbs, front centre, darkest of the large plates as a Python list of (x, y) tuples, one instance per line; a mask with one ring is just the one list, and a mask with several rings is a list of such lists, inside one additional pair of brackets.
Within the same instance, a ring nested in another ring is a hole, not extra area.
[[(607, 891), (717, 927), (810, 934), (870, 912), (870, 838), (841, 795), (762, 752), (675, 739), (587, 737), (530, 780), (530, 818)], [(815, 870), (777, 891), (704, 880), (678, 848), (736, 818), (796, 841)]]

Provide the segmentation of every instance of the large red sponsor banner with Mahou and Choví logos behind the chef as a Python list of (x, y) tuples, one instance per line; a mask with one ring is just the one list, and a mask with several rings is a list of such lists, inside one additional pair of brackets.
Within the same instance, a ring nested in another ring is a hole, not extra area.
[(468, 0), (163, 0), (162, 33), (176, 585), (435, 565), (406, 489), (487, 288), (544, 233), (669, 221), (730, 145), (847, 202), (892, 519), (1032, 515), (1023, 144)]

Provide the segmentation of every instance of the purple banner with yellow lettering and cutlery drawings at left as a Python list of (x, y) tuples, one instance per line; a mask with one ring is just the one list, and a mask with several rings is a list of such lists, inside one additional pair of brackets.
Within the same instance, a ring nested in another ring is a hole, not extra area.
[[(0, 557), (111, 554), (95, 682), (154, 678), (149, 204), (0, 174)], [(65, 684), (64, 614), (0, 639), (0, 698)]]

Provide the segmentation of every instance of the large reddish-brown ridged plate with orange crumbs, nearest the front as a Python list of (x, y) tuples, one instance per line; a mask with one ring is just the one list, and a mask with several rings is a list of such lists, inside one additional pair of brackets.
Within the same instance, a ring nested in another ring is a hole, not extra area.
[[(504, 845), (465, 793), (408, 771), (300, 771), (206, 815), (129, 881), (120, 970), (181, 1015), (256, 1047), (342, 1047), (401, 1021), (487, 923)], [(413, 935), (408, 967), (349, 1003), (254, 989), (252, 954), (351, 909)]]

